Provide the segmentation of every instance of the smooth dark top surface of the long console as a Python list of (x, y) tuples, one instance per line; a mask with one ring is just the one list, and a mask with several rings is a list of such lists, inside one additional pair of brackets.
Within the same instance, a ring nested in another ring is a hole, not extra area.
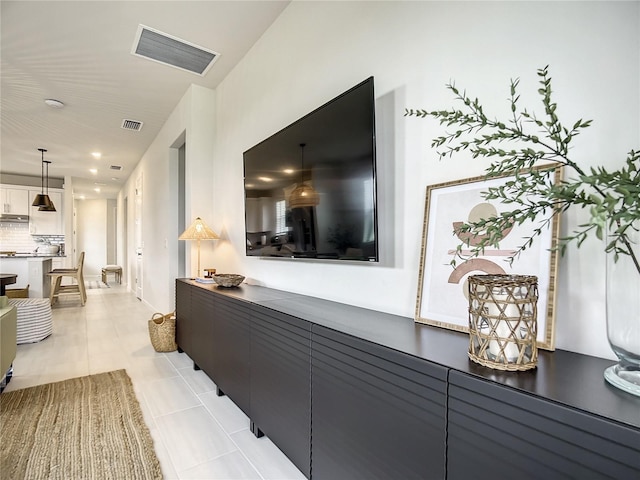
[(192, 280), (183, 281), (523, 393), (640, 428), (640, 398), (610, 386), (604, 379), (604, 370), (616, 363), (613, 360), (565, 350), (539, 350), (536, 369), (503, 372), (469, 360), (467, 334), (415, 323), (412, 318), (254, 285), (222, 288)]

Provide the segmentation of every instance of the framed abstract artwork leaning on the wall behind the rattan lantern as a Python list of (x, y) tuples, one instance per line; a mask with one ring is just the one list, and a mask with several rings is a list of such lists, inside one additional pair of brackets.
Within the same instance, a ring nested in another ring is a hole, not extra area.
[[(562, 177), (560, 166), (547, 165), (536, 169), (549, 175), (552, 182), (558, 182)], [(508, 257), (513, 255), (534, 229), (540, 228), (538, 222), (516, 225), (504, 232), (497, 248), (487, 247), (482, 255), (466, 261), (458, 258), (455, 266), (451, 265), (459, 245), (463, 245), (460, 252), (462, 255), (469, 253), (469, 250), (464, 250), (465, 242), (455, 233), (460, 225), (514, 208), (500, 201), (487, 202), (482, 197), (482, 192), (505, 184), (510, 178), (514, 177), (487, 179), (482, 176), (427, 187), (415, 321), (468, 332), (469, 275), (535, 275), (538, 277), (538, 348), (553, 350), (558, 263), (555, 247), (560, 228), (558, 215), (554, 216), (549, 228), (543, 228), (541, 235), (511, 265), (507, 261)], [(535, 201), (535, 198), (532, 197), (531, 200)], [(467, 238), (466, 241), (472, 239)]]

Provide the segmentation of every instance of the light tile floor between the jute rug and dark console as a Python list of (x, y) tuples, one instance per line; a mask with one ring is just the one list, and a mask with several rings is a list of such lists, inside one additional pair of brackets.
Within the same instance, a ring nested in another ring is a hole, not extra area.
[[(92, 286), (96, 282), (90, 283)], [(126, 287), (87, 290), (53, 308), (53, 334), (18, 345), (5, 391), (126, 369), (167, 479), (301, 480), (304, 475), (186, 353), (157, 353), (147, 322), (154, 313)], [(166, 313), (166, 312), (163, 312)]]

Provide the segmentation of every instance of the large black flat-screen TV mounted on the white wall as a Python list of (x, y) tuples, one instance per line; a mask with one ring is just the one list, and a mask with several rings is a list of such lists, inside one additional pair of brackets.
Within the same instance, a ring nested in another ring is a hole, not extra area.
[(378, 261), (373, 77), (244, 152), (247, 255)]

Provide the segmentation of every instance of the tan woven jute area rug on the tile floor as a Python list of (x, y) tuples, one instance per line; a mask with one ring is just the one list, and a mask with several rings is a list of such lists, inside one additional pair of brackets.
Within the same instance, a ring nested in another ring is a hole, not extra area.
[(0, 395), (2, 479), (161, 479), (124, 370)]

